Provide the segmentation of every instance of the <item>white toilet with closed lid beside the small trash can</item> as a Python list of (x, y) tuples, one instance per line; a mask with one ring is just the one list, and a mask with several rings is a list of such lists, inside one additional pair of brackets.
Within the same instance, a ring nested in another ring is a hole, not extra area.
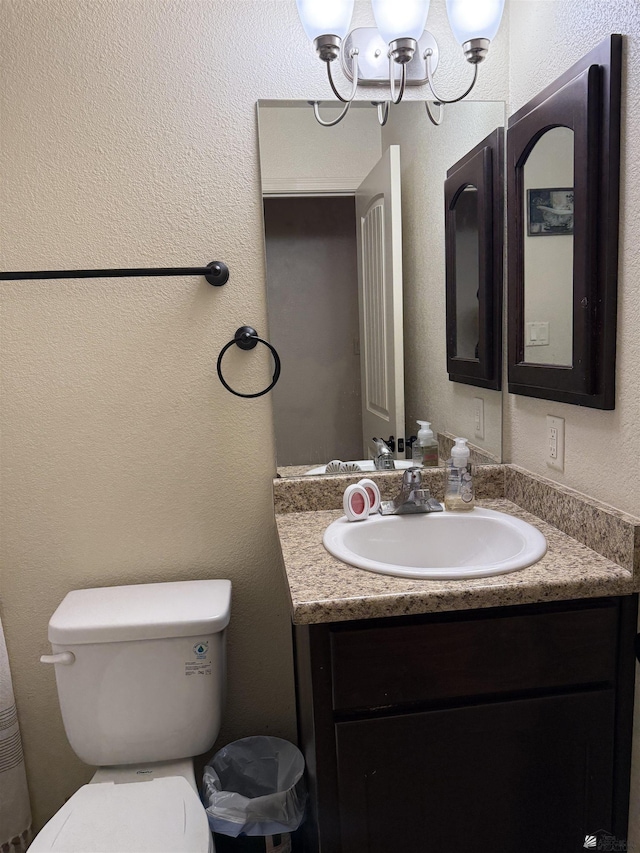
[(192, 757), (220, 729), (228, 580), (82, 589), (49, 622), (69, 743), (97, 771), (30, 851), (214, 853)]

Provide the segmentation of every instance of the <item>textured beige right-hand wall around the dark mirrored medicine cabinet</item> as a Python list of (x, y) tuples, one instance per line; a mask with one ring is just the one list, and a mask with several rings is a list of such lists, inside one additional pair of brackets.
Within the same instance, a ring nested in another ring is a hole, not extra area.
[[(613, 412), (508, 395), (505, 457), (640, 514), (640, 4), (637, 0), (512, 0), (510, 112), (608, 34), (622, 33), (622, 175), (618, 279), (617, 399)], [(545, 416), (565, 419), (565, 469), (545, 462)], [(621, 460), (624, 460), (621, 467)], [(623, 473), (624, 472), (624, 473)]]

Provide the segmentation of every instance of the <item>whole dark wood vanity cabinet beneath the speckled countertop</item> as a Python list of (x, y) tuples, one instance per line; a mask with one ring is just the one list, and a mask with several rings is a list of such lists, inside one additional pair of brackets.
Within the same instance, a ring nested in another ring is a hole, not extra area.
[(626, 838), (637, 597), (294, 628), (306, 853)]

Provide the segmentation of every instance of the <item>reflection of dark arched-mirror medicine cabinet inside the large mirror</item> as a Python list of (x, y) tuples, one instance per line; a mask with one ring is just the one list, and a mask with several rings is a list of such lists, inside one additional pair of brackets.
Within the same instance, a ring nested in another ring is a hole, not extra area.
[(503, 128), (447, 171), (447, 370), (449, 379), (501, 387)]

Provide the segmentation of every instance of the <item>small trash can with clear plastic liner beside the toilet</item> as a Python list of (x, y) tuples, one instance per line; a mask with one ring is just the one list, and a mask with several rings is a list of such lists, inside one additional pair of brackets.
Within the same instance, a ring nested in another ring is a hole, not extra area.
[(202, 785), (216, 853), (290, 853), (304, 817), (303, 777), (302, 753), (281, 738), (246, 737), (217, 752)]

